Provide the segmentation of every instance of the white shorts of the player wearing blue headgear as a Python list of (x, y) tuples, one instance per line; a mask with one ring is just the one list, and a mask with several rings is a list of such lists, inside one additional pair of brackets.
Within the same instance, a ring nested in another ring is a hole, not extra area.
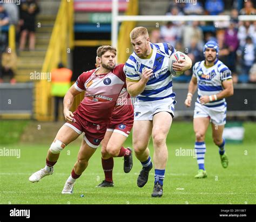
[(198, 102), (194, 103), (194, 118), (210, 117), (210, 121), (217, 125), (226, 124), (227, 103), (218, 107), (207, 107)]

